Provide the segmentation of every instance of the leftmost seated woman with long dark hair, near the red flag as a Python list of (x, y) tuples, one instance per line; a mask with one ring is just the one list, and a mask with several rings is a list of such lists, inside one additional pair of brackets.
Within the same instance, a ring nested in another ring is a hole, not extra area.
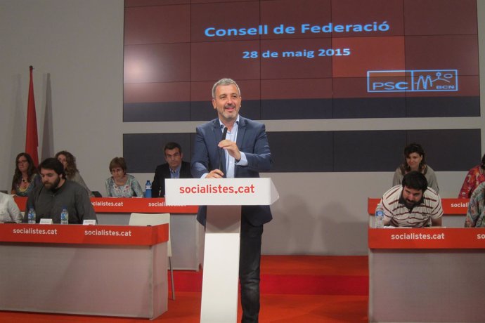
[(26, 197), (40, 181), (39, 172), (27, 152), (20, 152), (15, 158), (11, 194)]

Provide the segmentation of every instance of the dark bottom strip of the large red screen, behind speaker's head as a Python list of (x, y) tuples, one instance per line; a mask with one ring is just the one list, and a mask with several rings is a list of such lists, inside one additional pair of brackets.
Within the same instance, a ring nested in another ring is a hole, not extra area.
[[(241, 114), (253, 120), (479, 117), (480, 98), (339, 98), (243, 100)], [(210, 101), (124, 103), (123, 121), (205, 121), (214, 119)]]

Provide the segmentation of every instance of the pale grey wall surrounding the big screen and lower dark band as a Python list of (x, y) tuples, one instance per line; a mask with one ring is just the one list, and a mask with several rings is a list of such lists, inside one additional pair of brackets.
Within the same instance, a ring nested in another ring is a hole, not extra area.
[[(481, 115), (474, 118), (271, 120), (268, 131), (481, 128), (485, 152), (485, 4), (478, 1)], [(33, 65), (39, 129), (50, 75), (53, 152), (69, 150), (91, 190), (104, 192), (108, 163), (122, 155), (122, 133), (193, 132), (198, 122), (122, 123), (123, 1), (0, 0), (0, 190), (10, 187), (25, 146)], [(209, 91), (209, 90), (208, 90)], [(208, 105), (209, 107), (209, 105)], [(42, 138), (42, 131), (39, 137)], [(39, 147), (41, 150), (42, 147)], [(463, 151), (450, 152), (459, 158)], [(143, 158), (141, 156), (140, 158)], [(478, 162), (478, 161), (477, 161)], [(141, 183), (152, 174), (134, 174)], [(391, 185), (392, 173), (278, 173), (274, 220), (264, 253), (366, 254), (367, 197)], [(465, 172), (438, 172), (442, 197), (455, 197)]]

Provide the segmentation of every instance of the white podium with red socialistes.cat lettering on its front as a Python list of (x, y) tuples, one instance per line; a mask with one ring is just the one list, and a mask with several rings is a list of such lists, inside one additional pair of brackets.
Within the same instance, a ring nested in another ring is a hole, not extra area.
[(237, 322), (242, 205), (278, 199), (271, 178), (167, 179), (167, 205), (207, 205), (200, 322)]

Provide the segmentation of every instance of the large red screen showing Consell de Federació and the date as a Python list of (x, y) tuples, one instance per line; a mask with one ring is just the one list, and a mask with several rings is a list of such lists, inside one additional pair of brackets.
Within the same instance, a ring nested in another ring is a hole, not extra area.
[(251, 119), (480, 113), (476, 0), (141, 2), (125, 1), (126, 122), (211, 119), (221, 77)]

